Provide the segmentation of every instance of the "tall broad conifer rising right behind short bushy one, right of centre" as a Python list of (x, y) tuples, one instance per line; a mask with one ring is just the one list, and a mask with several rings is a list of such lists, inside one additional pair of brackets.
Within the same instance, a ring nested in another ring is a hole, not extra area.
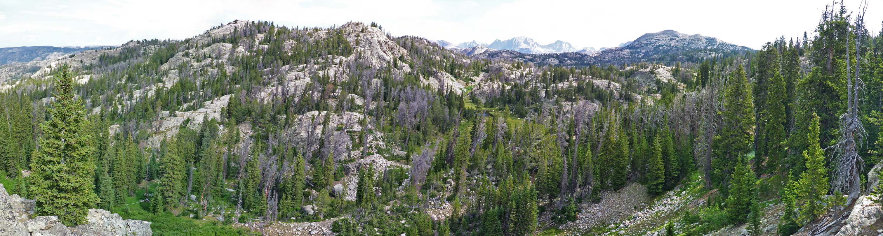
[(751, 151), (751, 128), (754, 114), (751, 105), (751, 91), (742, 64), (736, 67), (736, 75), (728, 83), (724, 92), (723, 125), (713, 138), (715, 152), (714, 181), (723, 181), (739, 165), (739, 159)]

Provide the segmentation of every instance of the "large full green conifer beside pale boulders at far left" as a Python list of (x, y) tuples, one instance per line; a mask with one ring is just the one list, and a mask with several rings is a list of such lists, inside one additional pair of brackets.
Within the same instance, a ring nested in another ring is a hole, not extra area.
[(84, 223), (87, 210), (100, 201), (94, 192), (94, 148), (83, 130), (88, 121), (82, 100), (75, 97), (73, 75), (64, 64), (57, 74), (49, 121), (31, 163), (31, 189), (37, 214), (58, 216), (64, 225)]

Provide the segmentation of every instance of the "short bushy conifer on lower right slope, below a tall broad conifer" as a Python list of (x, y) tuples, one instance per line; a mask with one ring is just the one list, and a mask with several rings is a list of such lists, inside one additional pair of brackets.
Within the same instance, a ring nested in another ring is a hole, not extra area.
[(731, 179), (726, 200), (727, 216), (730, 222), (742, 224), (751, 214), (751, 205), (757, 201), (757, 179), (751, 172), (751, 167), (741, 160)]

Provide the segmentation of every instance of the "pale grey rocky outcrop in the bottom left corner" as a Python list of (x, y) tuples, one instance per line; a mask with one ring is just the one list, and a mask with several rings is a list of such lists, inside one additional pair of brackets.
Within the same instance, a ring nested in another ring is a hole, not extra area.
[(67, 227), (57, 216), (34, 214), (34, 200), (6, 193), (0, 184), (0, 236), (151, 236), (150, 222), (123, 219), (107, 210), (89, 209), (87, 224)]

